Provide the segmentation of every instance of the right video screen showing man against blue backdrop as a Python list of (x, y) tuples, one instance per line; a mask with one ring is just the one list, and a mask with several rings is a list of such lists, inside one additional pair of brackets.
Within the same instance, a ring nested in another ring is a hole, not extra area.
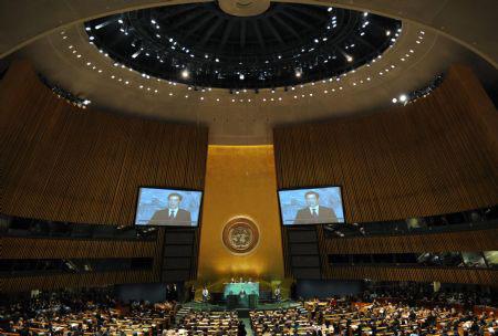
[[(319, 197), (309, 195), (307, 201), (310, 191)], [(279, 200), (284, 225), (344, 223), (340, 187), (280, 190)]]

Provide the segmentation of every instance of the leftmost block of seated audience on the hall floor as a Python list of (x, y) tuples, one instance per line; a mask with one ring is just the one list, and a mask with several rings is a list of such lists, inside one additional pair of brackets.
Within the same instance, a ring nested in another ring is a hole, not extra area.
[(0, 335), (158, 335), (175, 303), (122, 304), (103, 293), (58, 293), (0, 307)]

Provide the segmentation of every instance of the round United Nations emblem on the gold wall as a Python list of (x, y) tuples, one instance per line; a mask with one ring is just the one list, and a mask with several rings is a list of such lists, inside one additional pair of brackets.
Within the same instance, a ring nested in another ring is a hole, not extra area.
[(247, 217), (234, 218), (225, 224), (222, 240), (232, 253), (249, 253), (258, 244), (258, 227)]

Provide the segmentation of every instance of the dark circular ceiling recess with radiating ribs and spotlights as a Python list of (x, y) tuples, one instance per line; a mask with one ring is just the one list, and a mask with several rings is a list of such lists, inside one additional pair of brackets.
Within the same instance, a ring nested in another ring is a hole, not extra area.
[(341, 75), (381, 55), (401, 28), (401, 21), (372, 13), (286, 2), (249, 17), (201, 2), (85, 22), (90, 43), (116, 66), (193, 87), (228, 90)]

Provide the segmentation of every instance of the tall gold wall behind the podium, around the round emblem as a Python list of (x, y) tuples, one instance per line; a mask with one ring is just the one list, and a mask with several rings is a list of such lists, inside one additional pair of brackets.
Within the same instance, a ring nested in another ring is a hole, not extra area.
[[(283, 279), (273, 146), (209, 146), (203, 209), (200, 281)], [(232, 254), (221, 239), (225, 224), (238, 216), (259, 228), (259, 243), (247, 255)]]

